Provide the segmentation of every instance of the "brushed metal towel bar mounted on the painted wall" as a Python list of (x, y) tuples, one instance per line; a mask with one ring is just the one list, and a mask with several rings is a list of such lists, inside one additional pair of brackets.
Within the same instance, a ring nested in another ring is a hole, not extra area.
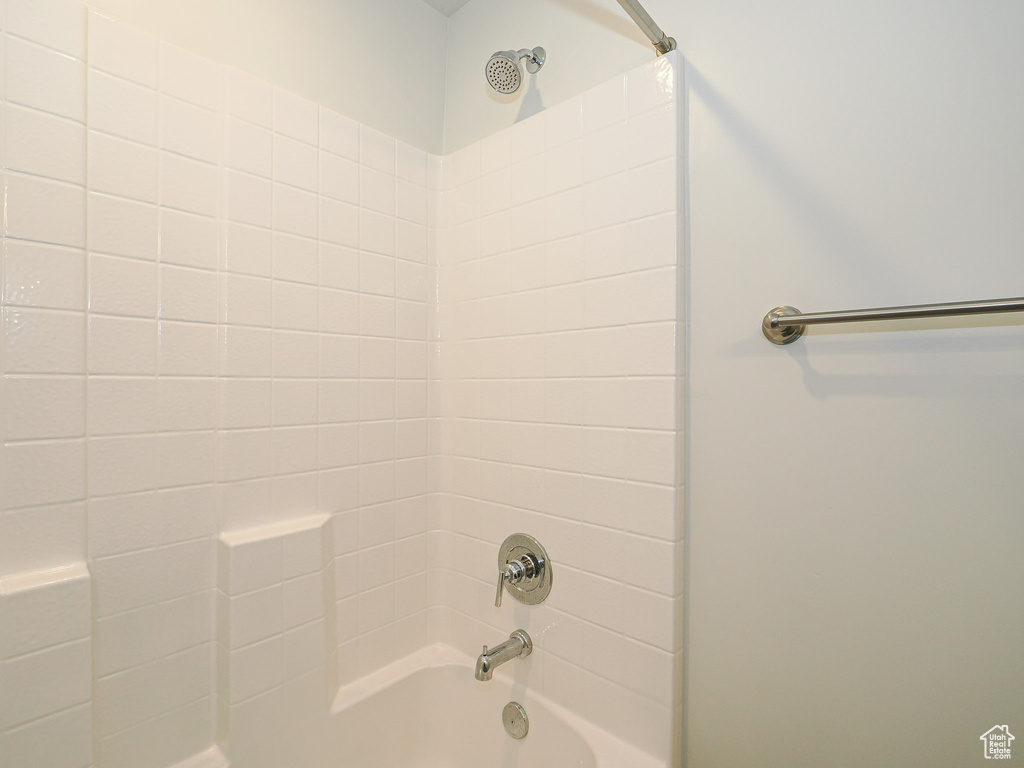
[(792, 344), (804, 335), (808, 326), (821, 326), (828, 323), (860, 323), (862, 321), (910, 319), (913, 317), (949, 317), (956, 314), (991, 314), (993, 312), (1024, 312), (1024, 298), (884, 306), (876, 309), (808, 312), (807, 314), (803, 314), (792, 306), (777, 306), (765, 315), (761, 330), (764, 332), (765, 338), (772, 344)]

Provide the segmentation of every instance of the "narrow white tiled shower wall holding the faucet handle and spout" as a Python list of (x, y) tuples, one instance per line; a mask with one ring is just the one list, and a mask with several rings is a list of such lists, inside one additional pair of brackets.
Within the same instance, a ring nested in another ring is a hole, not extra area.
[[(431, 372), (434, 636), (473, 652), (526, 629), (531, 689), (666, 760), (682, 690), (679, 69), (670, 54), (444, 159)], [(547, 547), (554, 585), (499, 609), (516, 530)]]

